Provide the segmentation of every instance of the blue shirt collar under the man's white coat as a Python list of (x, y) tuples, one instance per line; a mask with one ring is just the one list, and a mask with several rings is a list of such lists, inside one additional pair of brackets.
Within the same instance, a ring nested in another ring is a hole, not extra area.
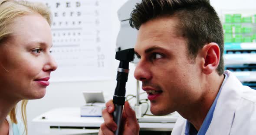
[(194, 125), (192, 125), (188, 120), (187, 120), (187, 123), (186, 123), (186, 128), (185, 128), (185, 135), (205, 135), (208, 128), (209, 128), (209, 125), (213, 119), (213, 112), (214, 112), (214, 109), (215, 109), (215, 106), (216, 106), (216, 103), (217, 103), (217, 100), (220, 96), (220, 91), (223, 87), (223, 85), (225, 84), (226, 82), (226, 79), (228, 77), (227, 74), (224, 74), (225, 78), (221, 84), (221, 87), (220, 87), (220, 90), (215, 98), (215, 100), (213, 101), (213, 104), (210, 108), (210, 110), (208, 111), (207, 113), (207, 116), (205, 117), (205, 119), (203, 120), (203, 124), (201, 125), (201, 128), (199, 129), (199, 131), (197, 132), (197, 130), (195, 129)]

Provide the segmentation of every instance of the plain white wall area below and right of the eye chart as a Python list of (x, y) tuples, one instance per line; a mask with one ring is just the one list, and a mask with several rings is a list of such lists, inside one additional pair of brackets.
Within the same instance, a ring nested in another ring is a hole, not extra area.
[[(118, 27), (119, 21), (117, 17), (117, 10), (126, 2), (126, 0), (110, 0), (113, 4), (111, 7), (113, 15), (110, 19), (115, 21), (113, 26)], [(115, 14), (114, 14), (115, 13)], [(113, 33), (113, 39), (116, 39), (118, 29)], [(115, 41), (115, 40), (114, 40)], [(110, 48), (115, 52), (115, 42), (109, 45)], [(82, 96), (82, 91), (85, 90), (103, 90), (106, 100), (112, 99), (116, 85), (116, 69), (118, 67), (118, 61), (115, 60), (115, 53), (112, 55), (114, 65), (112, 65), (112, 79), (105, 81), (81, 81), (81, 82), (60, 82), (51, 83), (47, 87), (46, 96), (39, 100), (30, 100), (27, 105), (27, 120), (28, 120), (28, 133), (29, 135), (36, 135), (32, 128), (32, 119), (40, 114), (59, 107), (80, 107), (84, 105), (85, 101)], [(135, 93), (136, 81), (133, 79), (134, 65), (131, 65), (131, 71), (127, 83), (127, 93)]]

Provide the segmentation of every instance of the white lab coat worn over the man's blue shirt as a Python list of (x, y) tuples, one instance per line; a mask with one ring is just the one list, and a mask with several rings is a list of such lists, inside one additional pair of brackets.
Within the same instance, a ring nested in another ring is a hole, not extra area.
[[(224, 73), (228, 78), (206, 135), (256, 135), (256, 90), (243, 86), (232, 72)], [(171, 135), (184, 135), (186, 121), (177, 119)]]

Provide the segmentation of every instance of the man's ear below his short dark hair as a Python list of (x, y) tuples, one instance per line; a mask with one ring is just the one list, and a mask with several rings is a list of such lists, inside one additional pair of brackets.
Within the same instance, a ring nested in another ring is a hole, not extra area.
[(211, 42), (207, 45), (204, 45), (200, 50), (202, 57), (202, 71), (204, 74), (211, 74), (213, 71), (216, 71), (220, 63), (220, 48), (219, 45)]

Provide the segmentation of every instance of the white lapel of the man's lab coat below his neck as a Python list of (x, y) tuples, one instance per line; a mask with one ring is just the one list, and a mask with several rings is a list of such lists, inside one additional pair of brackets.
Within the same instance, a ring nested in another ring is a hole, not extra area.
[(243, 85), (232, 72), (226, 70), (224, 74), (227, 74), (228, 78), (217, 101), (207, 135), (229, 135), (236, 107), (240, 101)]

